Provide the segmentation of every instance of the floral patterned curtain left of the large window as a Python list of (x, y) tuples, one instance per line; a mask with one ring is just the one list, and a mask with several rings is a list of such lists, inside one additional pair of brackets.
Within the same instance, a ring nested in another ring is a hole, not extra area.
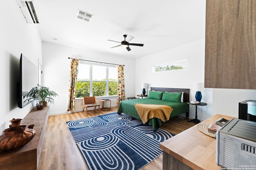
[(68, 109), (67, 111), (74, 111), (75, 106), (75, 93), (76, 93), (76, 79), (78, 73), (78, 62), (79, 59), (72, 59), (70, 62), (70, 79), (68, 88)]

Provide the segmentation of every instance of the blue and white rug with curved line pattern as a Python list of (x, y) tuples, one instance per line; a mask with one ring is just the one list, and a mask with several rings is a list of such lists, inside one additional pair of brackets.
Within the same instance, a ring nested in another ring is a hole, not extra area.
[(162, 154), (159, 144), (174, 136), (124, 113), (66, 123), (90, 170), (138, 170)]

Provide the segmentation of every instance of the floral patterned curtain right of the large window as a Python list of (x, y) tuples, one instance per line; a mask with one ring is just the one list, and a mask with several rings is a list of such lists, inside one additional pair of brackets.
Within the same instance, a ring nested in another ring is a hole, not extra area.
[(122, 100), (125, 100), (124, 90), (124, 65), (118, 65), (118, 91), (117, 91), (117, 104), (120, 104)]

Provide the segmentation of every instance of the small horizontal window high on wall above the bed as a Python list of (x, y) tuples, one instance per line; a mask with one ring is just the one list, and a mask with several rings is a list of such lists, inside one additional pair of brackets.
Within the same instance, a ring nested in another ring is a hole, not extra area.
[(187, 69), (187, 59), (174, 61), (171, 63), (159, 64), (153, 67), (153, 72), (163, 72), (172, 70), (185, 70)]

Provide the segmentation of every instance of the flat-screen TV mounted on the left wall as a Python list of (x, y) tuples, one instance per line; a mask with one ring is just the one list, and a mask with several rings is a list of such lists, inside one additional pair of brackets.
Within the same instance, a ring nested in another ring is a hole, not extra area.
[[(27, 59), (23, 54), (20, 55), (20, 81), (18, 82), (18, 107), (23, 108), (30, 102), (23, 98), (22, 92), (28, 92), (32, 87), (37, 86), (38, 67)], [(26, 101), (26, 102), (25, 102)]]

